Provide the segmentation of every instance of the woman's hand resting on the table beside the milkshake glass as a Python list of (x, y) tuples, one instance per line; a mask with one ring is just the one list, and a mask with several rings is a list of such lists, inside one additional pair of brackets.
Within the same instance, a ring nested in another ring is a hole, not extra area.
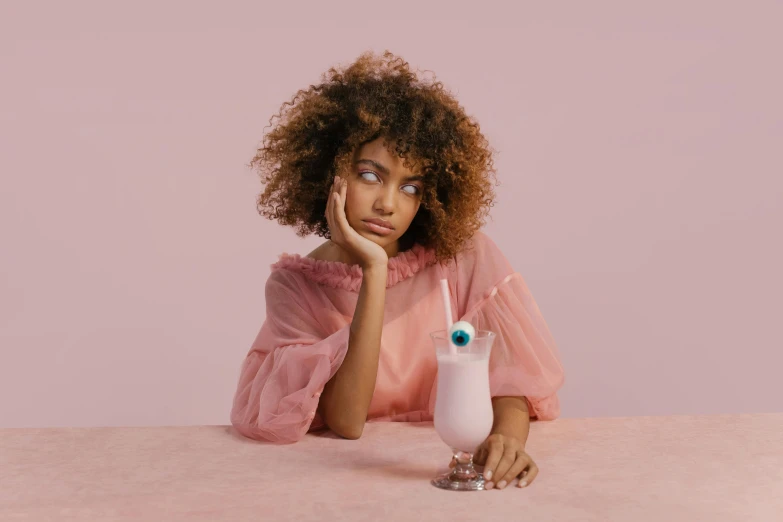
[[(538, 466), (525, 452), (522, 442), (507, 435), (492, 434), (487, 437), (476, 449), (473, 462), (484, 466), (486, 489), (492, 489), (495, 485), (503, 489), (517, 477), (517, 487), (523, 488), (538, 475)], [(455, 465), (456, 460), (452, 458), (449, 467)]]

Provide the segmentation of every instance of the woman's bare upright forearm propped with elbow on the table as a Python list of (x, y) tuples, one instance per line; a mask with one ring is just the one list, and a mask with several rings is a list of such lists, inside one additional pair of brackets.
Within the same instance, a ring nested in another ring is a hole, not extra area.
[(362, 286), (351, 322), (348, 351), (319, 401), (329, 428), (348, 439), (358, 439), (370, 409), (383, 331), (387, 267), (363, 270)]

